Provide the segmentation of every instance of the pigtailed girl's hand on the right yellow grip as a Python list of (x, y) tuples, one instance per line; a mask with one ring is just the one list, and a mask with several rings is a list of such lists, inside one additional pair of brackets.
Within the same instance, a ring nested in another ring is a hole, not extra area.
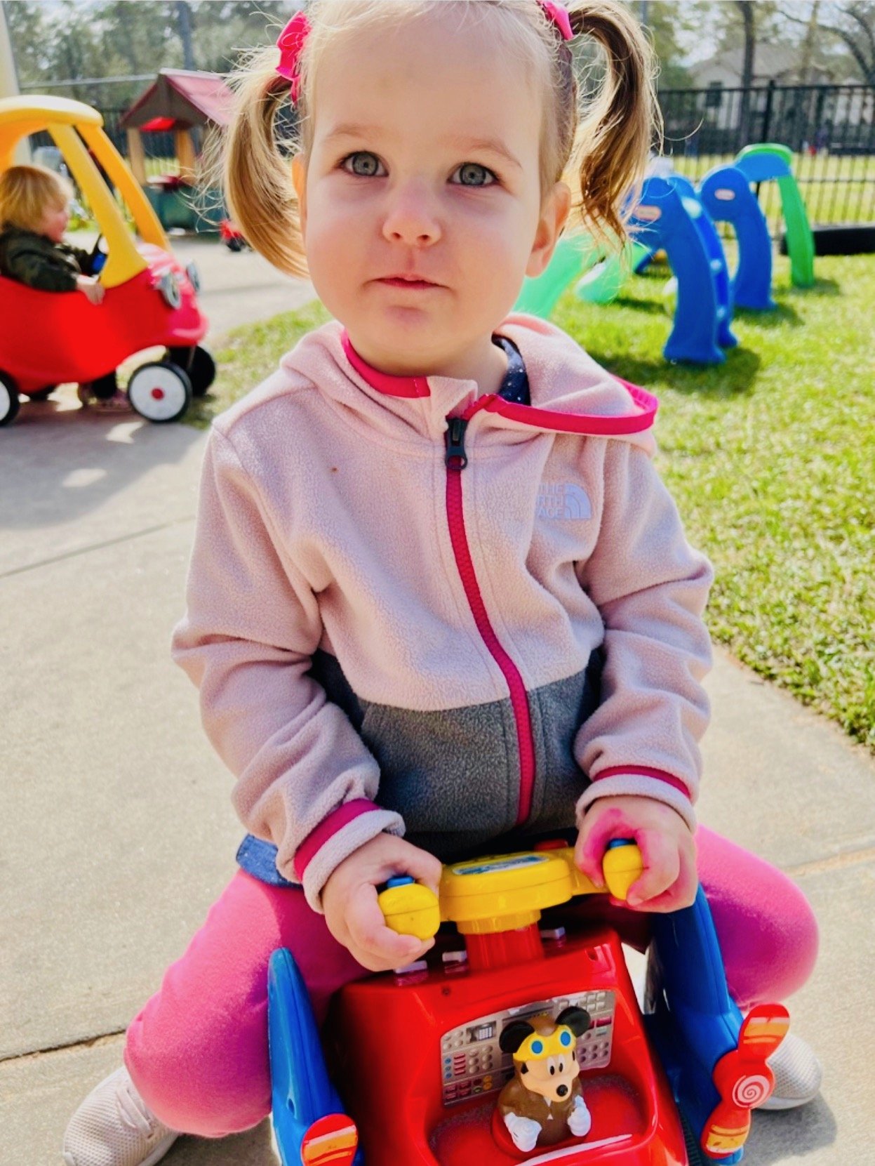
[(678, 911), (696, 898), (696, 840), (683, 817), (652, 798), (600, 798), (586, 810), (577, 836), (574, 862), (597, 886), (605, 886), (601, 861), (614, 838), (634, 838), (644, 872), (629, 887), (626, 902), (641, 911)]

